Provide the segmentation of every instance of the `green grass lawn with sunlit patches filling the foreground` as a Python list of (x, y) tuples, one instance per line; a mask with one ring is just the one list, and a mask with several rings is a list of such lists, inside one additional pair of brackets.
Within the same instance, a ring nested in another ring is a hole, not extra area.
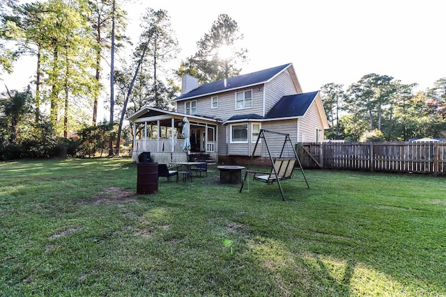
[(0, 163), (0, 296), (446, 296), (445, 178), (295, 170), (282, 202), (208, 171)]

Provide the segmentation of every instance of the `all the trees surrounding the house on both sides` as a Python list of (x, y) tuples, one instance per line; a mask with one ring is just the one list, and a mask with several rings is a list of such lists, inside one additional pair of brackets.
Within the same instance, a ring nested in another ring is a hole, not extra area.
[[(54, 144), (56, 138), (86, 131), (96, 125), (100, 99), (109, 102), (110, 127), (119, 127), (120, 133), (124, 115), (142, 106), (174, 110), (171, 100), (178, 95), (183, 74), (207, 83), (239, 75), (247, 62), (244, 35), (229, 15), (219, 15), (197, 41), (195, 54), (172, 66), (180, 45), (169, 13), (148, 8), (141, 15), (139, 41), (132, 45), (126, 37), (127, 13), (120, 4), (116, 0), (0, 1), (0, 74), (11, 72), (22, 56), (35, 61), (29, 65), (33, 78), (23, 79), (22, 91), (0, 95), (3, 147), (27, 142), (26, 149), (31, 150), (43, 140)], [(109, 60), (114, 56), (114, 40), (116, 69), (114, 58)], [(102, 67), (109, 61), (112, 71), (107, 76)], [(103, 86), (107, 79), (109, 99)], [(376, 73), (365, 74), (346, 88), (325, 83), (321, 95), (330, 123), (326, 137), (407, 141), (444, 136), (446, 78), (423, 91), (415, 92), (416, 86)], [(113, 125), (114, 113), (120, 115), (120, 125)]]

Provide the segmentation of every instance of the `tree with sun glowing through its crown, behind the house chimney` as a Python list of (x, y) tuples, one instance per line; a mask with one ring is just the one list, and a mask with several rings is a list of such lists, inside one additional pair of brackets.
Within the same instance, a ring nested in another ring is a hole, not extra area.
[(242, 41), (237, 22), (229, 15), (219, 15), (210, 31), (197, 42), (197, 53), (181, 63), (177, 75), (190, 74), (200, 83), (208, 83), (240, 74), (239, 67), (247, 61)]

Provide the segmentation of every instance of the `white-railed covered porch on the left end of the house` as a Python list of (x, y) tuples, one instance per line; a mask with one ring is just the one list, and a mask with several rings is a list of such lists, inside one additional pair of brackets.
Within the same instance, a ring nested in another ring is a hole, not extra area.
[(132, 125), (132, 161), (137, 161), (141, 152), (151, 152), (153, 161), (158, 163), (187, 161), (191, 154), (203, 153), (217, 160), (220, 120), (148, 106), (127, 120)]

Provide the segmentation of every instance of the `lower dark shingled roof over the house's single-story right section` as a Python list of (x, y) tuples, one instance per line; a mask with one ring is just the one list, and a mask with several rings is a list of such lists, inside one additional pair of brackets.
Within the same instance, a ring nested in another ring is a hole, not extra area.
[(301, 93), (295, 95), (287, 95), (282, 97), (275, 106), (264, 116), (249, 114), (249, 115), (234, 115), (226, 120), (223, 124), (228, 122), (243, 122), (245, 120), (282, 120), (284, 118), (302, 118), (307, 113), (309, 106), (318, 95), (319, 91), (310, 93)]

